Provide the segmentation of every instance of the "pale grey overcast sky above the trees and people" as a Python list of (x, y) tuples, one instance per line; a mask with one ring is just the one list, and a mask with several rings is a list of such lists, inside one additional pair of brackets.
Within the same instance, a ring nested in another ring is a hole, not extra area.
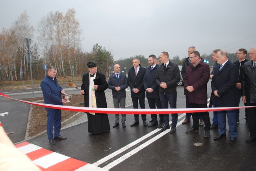
[(256, 0), (2, 0), (0, 29), (26, 10), (37, 30), (50, 11), (69, 8), (83, 30), (82, 49), (98, 43), (115, 60), (161, 51), (184, 58), (192, 45), (201, 54), (256, 46)]

